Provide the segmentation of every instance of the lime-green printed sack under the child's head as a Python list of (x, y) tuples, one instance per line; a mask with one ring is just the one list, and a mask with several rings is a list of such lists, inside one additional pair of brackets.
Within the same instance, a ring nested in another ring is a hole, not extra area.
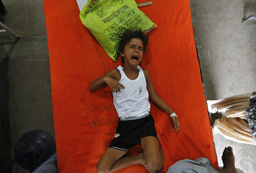
[(138, 30), (147, 33), (157, 27), (134, 0), (88, 0), (80, 19), (113, 60), (123, 36)]

